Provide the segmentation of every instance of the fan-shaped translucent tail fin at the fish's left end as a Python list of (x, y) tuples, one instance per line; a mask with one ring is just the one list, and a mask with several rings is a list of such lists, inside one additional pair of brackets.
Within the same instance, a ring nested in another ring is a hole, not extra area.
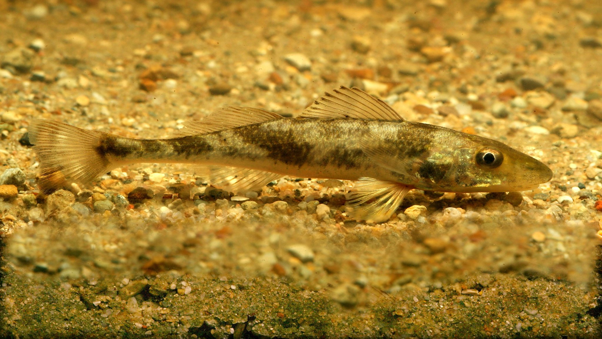
[(53, 120), (34, 120), (29, 142), (40, 158), (38, 187), (49, 194), (67, 181), (91, 181), (111, 168), (99, 146), (107, 135)]

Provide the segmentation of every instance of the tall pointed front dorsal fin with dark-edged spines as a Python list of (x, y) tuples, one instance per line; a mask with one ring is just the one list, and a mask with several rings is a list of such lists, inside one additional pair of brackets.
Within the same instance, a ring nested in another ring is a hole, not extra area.
[(404, 121), (386, 102), (353, 87), (349, 89), (341, 86), (324, 93), (314, 104), (305, 108), (300, 117), (309, 119), (376, 119)]

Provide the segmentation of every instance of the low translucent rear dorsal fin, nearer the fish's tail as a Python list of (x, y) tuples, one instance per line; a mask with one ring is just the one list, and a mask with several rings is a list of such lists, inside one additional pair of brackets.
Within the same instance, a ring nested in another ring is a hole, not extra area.
[(282, 119), (282, 116), (260, 108), (226, 106), (209, 114), (205, 119), (185, 122), (178, 135), (183, 137), (205, 134), (275, 119)]

